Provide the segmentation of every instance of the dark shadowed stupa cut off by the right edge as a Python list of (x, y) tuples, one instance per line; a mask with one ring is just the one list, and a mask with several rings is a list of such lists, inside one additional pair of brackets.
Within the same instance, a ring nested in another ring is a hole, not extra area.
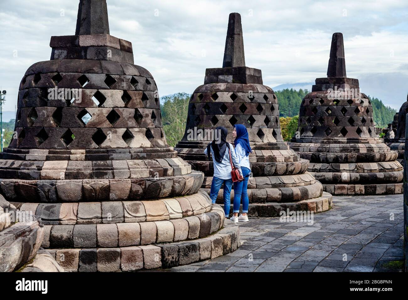
[[(392, 129), (395, 130), (394, 138), (384, 138), (384, 142), (390, 147), (391, 150), (398, 152), (397, 160), (402, 164), (404, 160), (404, 150), (405, 150), (405, 120), (408, 112), (408, 96), (407, 101), (401, 105), (399, 112), (395, 114), (394, 121), (392, 122)], [(395, 120), (397, 118), (397, 121)], [(397, 126), (395, 126), (397, 123)]]

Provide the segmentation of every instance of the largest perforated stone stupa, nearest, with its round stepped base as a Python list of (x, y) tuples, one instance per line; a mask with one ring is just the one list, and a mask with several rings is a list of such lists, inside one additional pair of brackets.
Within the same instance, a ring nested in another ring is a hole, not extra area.
[(153, 76), (109, 35), (106, 1), (80, 0), (75, 35), (50, 45), (51, 60), (22, 79), (18, 138), (0, 154), (1, 193), (42, 219), (42, 247), (66, 271), (173, 267), (237, 249), (237, 226), (223, 227), (222, 208), (199, 192), (203, 174), (166, 143)]

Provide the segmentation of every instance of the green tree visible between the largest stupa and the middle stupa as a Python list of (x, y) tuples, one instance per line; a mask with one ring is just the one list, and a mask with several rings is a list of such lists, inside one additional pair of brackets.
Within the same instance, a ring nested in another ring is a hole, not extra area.
[(171, 147), (175, 147), (184, 136), (190, 97), (191, 95), (187, 93), (177, 93), (162, 98), (163, 104), (160, 109), (162, 111), (163, 130), (167, 143)]

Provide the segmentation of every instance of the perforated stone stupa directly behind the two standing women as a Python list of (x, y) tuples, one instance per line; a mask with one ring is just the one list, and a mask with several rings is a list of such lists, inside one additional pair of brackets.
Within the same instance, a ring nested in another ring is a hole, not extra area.
[[(284, 142), (275, 93), (263, 85), (261, 70), (245, 66), (241, 16), (231, 13), (223, 67), (206, 69), (204, 84), (195, 89), (189, 102), (186, 132), (175, 147), (193, 169), (204, 172), (207, 192), (213, 162), (208, 161), (204, 149), (211, 137), (189, 140), (189, 133), (224, 126), (227, 141), (233, 142), (235, 124), (246, 125), (253, 149), (249, 156), (253, 173), (248, 183), (249, 216), (279, 216), (279, 211), (287, 208), (316, 212), (331, 207), (331, 195), (322, 193), (322, 184), (306, 172), (309, 162)], [(217, 202), (224, 203), (222, 193)]]

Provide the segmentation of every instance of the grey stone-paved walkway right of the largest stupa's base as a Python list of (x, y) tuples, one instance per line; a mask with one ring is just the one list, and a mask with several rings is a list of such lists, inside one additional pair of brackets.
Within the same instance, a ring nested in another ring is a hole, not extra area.
[(333, 197), (333, 204), (314, 214), (313, 225), (279, 218), (239, 222), (237, 251), (165, 271), (402, 271), (402, 195)]

